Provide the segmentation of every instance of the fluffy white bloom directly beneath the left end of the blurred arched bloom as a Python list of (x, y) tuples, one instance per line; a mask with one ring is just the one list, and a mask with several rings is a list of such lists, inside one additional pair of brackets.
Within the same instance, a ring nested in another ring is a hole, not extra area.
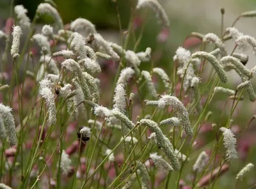
[(86, 54), (86, 47), (84, 43), (85, 41), (84, 37), (81, 34), (74, 32), (72, 33), (71, 38), (72, 38), (71, 47), (74, 47), (76, 52), (79, 54), (79, 59), (85, 59), (87, 57), (87, 54)]

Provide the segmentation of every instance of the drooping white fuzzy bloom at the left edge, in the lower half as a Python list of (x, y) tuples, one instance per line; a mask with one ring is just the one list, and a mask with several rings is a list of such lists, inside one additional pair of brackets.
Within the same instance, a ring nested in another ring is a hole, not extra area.
[(12, 109), (10, 107), (0, 103), (0, 115), (3, 119), (4, 128), (6, 130), (6, 135), (8, 137), (8, 142), (12, 147), (17, 144), (17, 137), (15, 132), (15, 122), (11, 111)]

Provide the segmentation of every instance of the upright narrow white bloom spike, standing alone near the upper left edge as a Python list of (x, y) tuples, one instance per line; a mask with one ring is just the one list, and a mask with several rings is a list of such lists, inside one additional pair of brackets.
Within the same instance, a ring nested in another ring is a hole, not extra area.
[(20, 50), (20, 36), (22, 35), (22, 30), (19, 26), (14, 26), (13, 27), (13, 41), (12, 41), (12, 49), (11, 49), (11, 54), (12, 58), (16, 59), (19, 57), (19, 50)]

